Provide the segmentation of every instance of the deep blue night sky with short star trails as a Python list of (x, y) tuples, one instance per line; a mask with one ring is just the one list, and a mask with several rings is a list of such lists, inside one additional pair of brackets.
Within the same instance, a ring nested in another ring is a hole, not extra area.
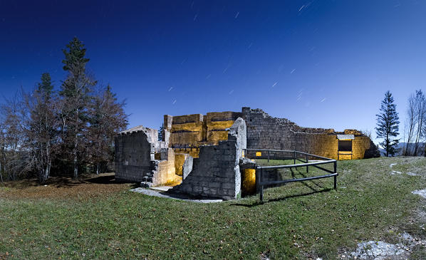
[(403, 122), (426, 78), (426, 1), (0, 0), (1, 95), (45, 71), (59, 87), (73, 36), (95, 78), (127, 100), (130, 126), (249, 106), (373, 130), (386, 90)]

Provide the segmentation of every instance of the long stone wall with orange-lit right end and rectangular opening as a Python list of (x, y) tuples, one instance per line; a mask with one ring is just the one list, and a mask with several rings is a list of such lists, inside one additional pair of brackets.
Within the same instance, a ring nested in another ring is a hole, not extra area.
[[(370, 138), (357, 130), (336, 132), (333, 129), (301, 128), (285, 118), (273, 118), (260, 109), (242, 108), (242, 115), (247, 125), (247, 148), (298, 150), (338, 159), (337, 134), (350, 134), (355, 136), (352, 159), (378, 155), (377, 147)], [(250, 157), (255, 156), (251, 154)], [(339, 157), (350, 159), (350, 155)]]

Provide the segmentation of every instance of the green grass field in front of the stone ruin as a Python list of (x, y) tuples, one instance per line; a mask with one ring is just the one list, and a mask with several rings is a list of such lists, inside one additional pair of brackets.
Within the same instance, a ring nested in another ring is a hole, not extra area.
[[(332, 178), (296, 182), (266, 189), (264, 204), (147, 197), (109, 175), (9, 183), (0, 259), (343, 259), (360, 241), (426, 238), (426, 199), (411, 193), (426, 188), (425, 158), (341, 161), (338, 172), (337, 190)], [(424, 246), (410, 253), (424, 256)]]

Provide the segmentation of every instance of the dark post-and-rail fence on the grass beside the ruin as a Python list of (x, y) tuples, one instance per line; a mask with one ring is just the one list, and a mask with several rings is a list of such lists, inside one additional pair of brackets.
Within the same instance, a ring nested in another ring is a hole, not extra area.
[[(273, 185), (273, 184), (285, 184), (288, 182), (303, 182), (303, 181), (307, 181), (307, 180), (317, 180), (317, 179), (322, 179), (322, 178), (328, 178), (328, 177), (334, 177), (334, 189), (337, 189), (337, 161), (334, 159), (330, 159), (327, 157), (322, 157), (319, 155), (311, 155), (307, 152), (299, 152), (296, 150), (266, 150), (266, 149), (243, 149), (244, 150), (244, 155), (248, 158), (250, 158), (247, 155), (247, 152), (249, 151), (254, 151), (255, 154), (256, 152), (266, 152), (266, 158), (269, 162), (269, 160), (271, 159), (271, 154), (276, 155), (277, 152), (281, 152), (281, 153), (288, 153), (291, 156), (289, 157), (280, 157), (279, 160), (293, 160), (293, 165), (274, 165), (274, 166), (260, 166), (256, 164), (256, 190), (259, 192), (259, 199), (261, 200), (261, 202), (263, 202), (264, 200), (264, 186), (267, 185)], [(296, 155), (301, 155), (301, 157), (304, 159), (302, 160), (301, 158), (298, 158)], [(266, 159), (263, 158), (262, 155), (260, 156), (254, 156), (251, 157), (251, 159), (256, 159), (256, 158), (261, 158), (261, 159)], [(316, 158), (316, 159), (321, 159), (321, 161), (318, 162), (309, 162), (309, 158)], [(303, 163), (299, 163), (296, 164), (296, 160), (299, 162), (303, 162)], [(328, 170), (324, 167), (321, 167), (319, 165), (327, 165), (327, 164), (333, 164), (333, 170)], [(273, 169), (286, 169), (286, 168), (298, 168), (298, 167), (306, 167), (306, 172), (309, 172), (309, 167), (315, 167), (319, 170), (323, 170), (324, 172), (328, 172), (328, 175), (319, 175), (319, 176), (313, 176), (313, 177), (303, 177), (303, 178), (293, 178), (293, 179), (288, 179), (288, 180), (274, 180), (274, 181), (264, 181), (264, 170), (273, 170)]]

